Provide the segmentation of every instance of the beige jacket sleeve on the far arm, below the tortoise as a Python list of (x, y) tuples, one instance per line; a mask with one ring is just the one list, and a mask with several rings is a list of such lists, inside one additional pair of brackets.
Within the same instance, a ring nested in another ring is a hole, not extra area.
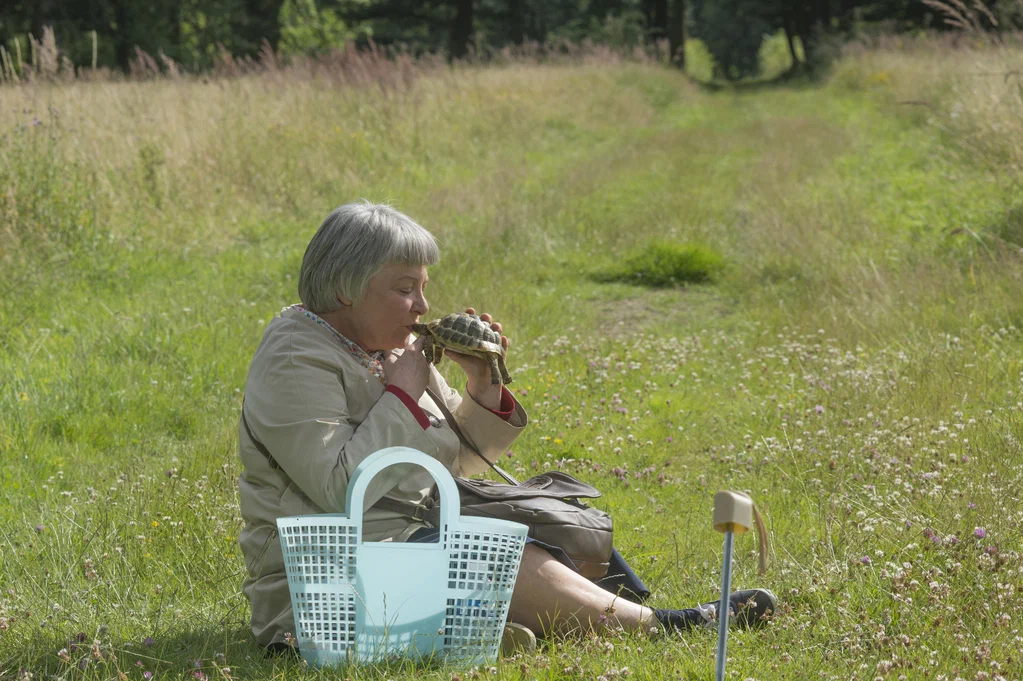
[[(470, 397), (468, 392), (459, 395), (457, 391), (447, 384), (436, 370), (434, 370), (431, 382), (434, 392), (444, 400), (444, 406), (454, 416), (461, 434), (465, 436), (465, 440), (475, 445), (488, 461), (496, 463), (511, 446), (515, 439), (519, 437), (519, 434), (529, 424), (526, 410), (514, 397), (511, 401), (515, 403), (515, 409), (505, 420), (481, 406)], [(459, 448), (457, 463), (460, 468), (460, 472), (457, 474), (460, 475), (475, 475), (490, 470), (490, 466), (465, 447)]]

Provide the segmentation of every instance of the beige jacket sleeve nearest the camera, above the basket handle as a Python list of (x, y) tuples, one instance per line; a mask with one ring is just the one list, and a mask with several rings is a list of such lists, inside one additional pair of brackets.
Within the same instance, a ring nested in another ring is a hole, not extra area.
[[(250, 375), (244, 415), (253, 435), (309, 499), (326, 512), (345, 512), (356, 466), (385, 447), (406, 446), (435, 454), (436, 445), (394, 393), (385, 392), (356, 427), (339, 372), (315, 352), (278, 348)], [(414, 466), (395, 465), (366, 491), (368, 508)]]

